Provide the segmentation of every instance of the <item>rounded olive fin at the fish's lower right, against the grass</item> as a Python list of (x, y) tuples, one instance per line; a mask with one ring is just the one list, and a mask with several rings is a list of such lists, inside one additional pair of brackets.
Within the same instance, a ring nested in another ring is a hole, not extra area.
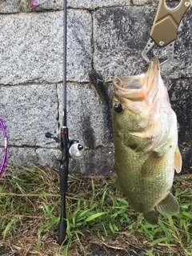
[(177, 215), (179, 213), (178, 200), (169, 192), (166, 198), (158, 203), (156, 209), (163, 215)]

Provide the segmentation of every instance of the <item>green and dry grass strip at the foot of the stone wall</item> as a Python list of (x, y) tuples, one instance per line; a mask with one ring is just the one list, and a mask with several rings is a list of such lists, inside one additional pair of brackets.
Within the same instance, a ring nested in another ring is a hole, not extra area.
[(5, 245), (20, 246), (34, 255), (86, 254), (98, 242), (122, 250), (137, 246), (142, 255), (192, 255), (191, 181), (190, 174), (176, 178), (174, 194), (180, 213), (159, 215), (158, 225), (152, 226), (130, 209), (114, 188), (114, 177), (69, 175), (67, 236), (65, 245), (58, 246), (58, 171), (34, 166), (16, 174), (10, 169), (0, 179), (0, 236)]

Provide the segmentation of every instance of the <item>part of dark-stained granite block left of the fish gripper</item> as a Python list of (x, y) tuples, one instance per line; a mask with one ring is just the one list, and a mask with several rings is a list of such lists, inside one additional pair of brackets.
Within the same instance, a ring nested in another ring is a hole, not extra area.
[(145, 70), (142, 49), (154, 14), (153, 6), (129, 6), (94, 12), (94, 68), (106, 79)]

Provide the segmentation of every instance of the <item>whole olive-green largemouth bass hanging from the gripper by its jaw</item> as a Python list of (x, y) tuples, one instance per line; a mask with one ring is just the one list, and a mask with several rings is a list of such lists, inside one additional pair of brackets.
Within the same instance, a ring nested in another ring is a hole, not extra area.
[(170, 189), (174, 170), (182, 168), (177, 117), (160, 74), (157, 58), (146, 74), (114, 78), (113, 127), (116, 185), (151, 224), (156, 210), (176, 215), (179, 205)]

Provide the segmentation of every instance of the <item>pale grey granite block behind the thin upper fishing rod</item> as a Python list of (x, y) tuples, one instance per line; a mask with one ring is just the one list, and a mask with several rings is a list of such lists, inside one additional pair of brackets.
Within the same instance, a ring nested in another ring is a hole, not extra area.
[[(0, 83), (58, 82), (63, 77), (62, 11), (0, 16)], [(69, 10), (67, 79), (87, 81), (91, 15)]]

